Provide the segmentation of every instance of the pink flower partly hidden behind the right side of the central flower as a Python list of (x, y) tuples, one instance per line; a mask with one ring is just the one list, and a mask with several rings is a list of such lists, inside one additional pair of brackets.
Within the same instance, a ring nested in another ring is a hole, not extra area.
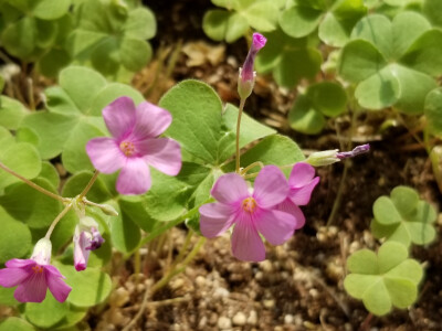
[(305, 217), (298, 205), (306, 205), (311, 201), (312, 192), (319, 182), (315, 177), (315, 168), (299, 162), (293, 166), (288, 178), (290, 191), (287, 197), (277, 205), (280, 211), (292, 214), (296, 218), (295, 229), (304, 226)]

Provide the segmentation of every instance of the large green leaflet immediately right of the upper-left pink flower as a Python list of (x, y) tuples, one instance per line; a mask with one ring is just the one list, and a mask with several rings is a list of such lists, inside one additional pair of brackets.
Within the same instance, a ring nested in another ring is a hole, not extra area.
[(215, 164), (222, 111), (217, 93), (204, 83), (185, 81), (169, 89), (159, 106), (173, 116), (166, 135), (192, 156)]

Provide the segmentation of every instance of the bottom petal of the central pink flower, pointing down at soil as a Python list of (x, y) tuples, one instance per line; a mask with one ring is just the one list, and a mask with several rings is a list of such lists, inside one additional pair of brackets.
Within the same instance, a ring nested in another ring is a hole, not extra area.
[(244, 261), (262, 261), (265, 259), (265, 247), (251, 215), (241, 212), (232, 234), (232, 254)]

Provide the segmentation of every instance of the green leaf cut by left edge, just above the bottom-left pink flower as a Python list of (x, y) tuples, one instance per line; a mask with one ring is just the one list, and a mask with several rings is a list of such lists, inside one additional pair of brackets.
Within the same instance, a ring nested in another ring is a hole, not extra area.
[(0, 207), (0, 218), (3, 228), (0, 233), (0, 264), (30, 254), (32, 242), (29, 228), (8, 215), (2, 207)]

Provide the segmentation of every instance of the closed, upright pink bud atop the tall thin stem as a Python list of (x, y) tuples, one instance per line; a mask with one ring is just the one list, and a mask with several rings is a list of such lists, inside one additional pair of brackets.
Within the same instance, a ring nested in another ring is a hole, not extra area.
[(253, 66), (257, 52), (265, 46), (267, 40), (261, 33), (253, 33), (252, 46), (245, 57), (244, 65), (240, 68), (240, 79), (238, 82), (238, 93), (241, 98), (248, 98), (255, 84), (255, 72)]

